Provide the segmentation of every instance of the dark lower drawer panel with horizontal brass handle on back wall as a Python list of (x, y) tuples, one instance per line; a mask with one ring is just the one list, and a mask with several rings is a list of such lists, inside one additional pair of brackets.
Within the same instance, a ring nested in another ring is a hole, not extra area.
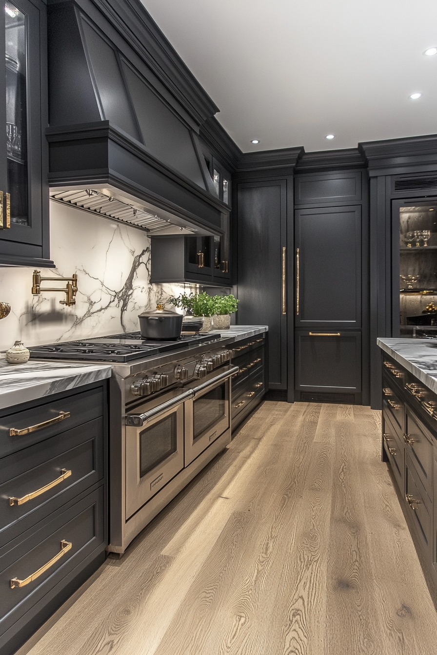
[(297, 331), (295, 357), (297, 390), (361, 391), (360, 332)]

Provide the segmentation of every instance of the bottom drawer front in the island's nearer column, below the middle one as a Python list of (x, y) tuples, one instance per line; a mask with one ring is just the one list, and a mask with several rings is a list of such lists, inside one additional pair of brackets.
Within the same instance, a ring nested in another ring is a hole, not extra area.
[(430, 501), (423, 493), (415, 466), (408, 455), (405, 458), (405, 493), (406, 507), (415, 526), (423, 551), (429, 560), (432, 557), (432, 516)]

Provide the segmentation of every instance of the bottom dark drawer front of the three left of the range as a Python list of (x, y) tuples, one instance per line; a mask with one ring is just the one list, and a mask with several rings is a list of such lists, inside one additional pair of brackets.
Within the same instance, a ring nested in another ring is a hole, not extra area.
[[(43, 521), (37, 531), (28, 531), (27, 538), (0, 557), (0, 632), (104, 543), (103, 512), (100, 487), (64, 512), (56, 512), (50, 521)], [(35, 579), (29, 580), (32, 574)], [(12, 588), (20, 580), (27, 584)]]

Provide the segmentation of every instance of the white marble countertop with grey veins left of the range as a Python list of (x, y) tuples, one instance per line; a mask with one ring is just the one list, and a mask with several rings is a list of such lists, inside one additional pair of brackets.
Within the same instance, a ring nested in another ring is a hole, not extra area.
[(8, 364), (0, 360), (0, 409), (7, 409), (77, 389), (111, 377), (108, 364), (73, 364), (72, 362), (43, 362), (30, 360), (26, 364)]

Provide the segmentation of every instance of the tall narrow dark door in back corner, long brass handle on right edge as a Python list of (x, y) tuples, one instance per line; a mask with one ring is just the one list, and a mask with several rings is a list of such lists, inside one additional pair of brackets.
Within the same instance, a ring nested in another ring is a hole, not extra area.
[(240, 325), (269, 326), (269, 388), (287, 386), (286, 314), (282, 314), (282, 247), (286, 246), (286, 180), (238, 185)]

